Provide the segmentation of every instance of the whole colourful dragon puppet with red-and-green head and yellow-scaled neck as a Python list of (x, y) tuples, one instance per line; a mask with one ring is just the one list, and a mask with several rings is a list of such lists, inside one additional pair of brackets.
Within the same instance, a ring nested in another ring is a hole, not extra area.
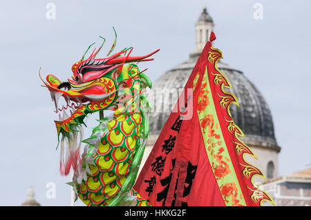
[[(136, 63), (153, 60), (147, 58), (158, 50), (131, 57), (133, 48), (124, 48), (110, 55), (115, 34), (109, 53), (97, 59), (102, 39), (98, 50), (85, 59), (91, 44), (73, 64), (72, 79), (61, 81), (53, 74), (48, 74), (46, 81), (41, 78), (59, 114), (55, 125), (61, 146), (60, 172), (68, 175), (73, 168), (69, 184), (76, 199), (88, 206), (149, 206), (133, 190), (149, 134), (150, 108), (144, 91), (151, 88), (151, 81)], [(65, 99), (66, 104), (58, 106), (59, 99)], [(104, 117), (104, 110), (112, 110), (113, 115)], [(91, 137), (83, 139), (84, 119), (95, 112), (99, 112), (99, 124)]]

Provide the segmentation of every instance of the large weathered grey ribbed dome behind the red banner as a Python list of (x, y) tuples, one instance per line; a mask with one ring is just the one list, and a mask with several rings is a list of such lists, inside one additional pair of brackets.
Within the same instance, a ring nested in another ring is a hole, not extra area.
[[(184, 88), (199, 56), (200, 54), (191, 54), (189, 61), (164, 73), (153, 85), (153, 91), (156, 91), (157, 88)], [(272, 115), (261, 92), (240, 70), (235, 70), (220, 61), (218, 68), (232, 84), (232, 88), (227, 91), (235, 94), (238, 99), (240, 107), (232, 104), (230, 111), (234, 122), (245, 134), (243, 141), (247, 145), (273, 148), (279, 152), (281, 148), (277, 145), (274, 137)], [(179, 95), (180, 93), (178, 97)], [(152, 137), (153, 135), (158, 136), (160, 134), (178, 97), (170, 97), (169, 94), (164, 94), (162, 101), (153, 102), (155, 103), (154, 112), (150, 114), (149, 119), (149, 134), (152, 139), (155, 138)], [(159, 98), (156, 97), (156, 99)], [(171, 101), (172, 99), (175, 100)]]

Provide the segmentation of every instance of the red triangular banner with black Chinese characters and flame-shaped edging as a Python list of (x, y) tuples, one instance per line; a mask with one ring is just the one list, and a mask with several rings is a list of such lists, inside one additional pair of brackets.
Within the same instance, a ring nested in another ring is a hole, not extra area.
[[(215, 39), (211, 34), (211, 41)], [(273, 203), (252, 183), (261, 171), (239, 139), (229, 105), (237, 102), (208, 41), (135, 183), (152, 206), (260, 206)]]

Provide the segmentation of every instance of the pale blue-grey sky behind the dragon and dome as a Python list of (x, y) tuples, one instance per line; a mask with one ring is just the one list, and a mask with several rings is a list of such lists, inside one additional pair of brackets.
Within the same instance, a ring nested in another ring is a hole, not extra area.
[[(255, 3), (263, 6), (262, 19), (254, 19)], [(160, 48), (141, 67), (154, 82), (194, 51), (194, 24), (205, 7), (223, 61), (243, 71), (270, 106), (279, 175), (308, 168), (311, 1), (3, 1), (0, 206), (20, 206), (30, 186), (41, 206), (70, 206), (70, 177), (59, 174), (53, 103), (41, 87), (40, 67), (43, 76), (67, 79), (86, 48), (102, 43), (99, 36), (108, 52), (114, 27), (115, 51), (133, 46), (138, 56)]]

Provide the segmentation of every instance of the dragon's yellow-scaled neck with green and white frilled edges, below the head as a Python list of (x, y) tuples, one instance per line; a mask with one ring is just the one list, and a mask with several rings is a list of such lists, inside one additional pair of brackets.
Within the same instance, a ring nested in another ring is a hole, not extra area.
[[(151, 82), (137, 67), (129, 77), (131, 86), (117, 96), (123, 104), (110, 117), (98, 119), (91, 137), (82, 141), (86, 146), (73, 186), (87, 205), (117, 206), (129, 197), (138, 174), (149, 134), (150, 108), (144, 90), (151, 88)], [(94, 193), (97, 190), (102, 193)]]

